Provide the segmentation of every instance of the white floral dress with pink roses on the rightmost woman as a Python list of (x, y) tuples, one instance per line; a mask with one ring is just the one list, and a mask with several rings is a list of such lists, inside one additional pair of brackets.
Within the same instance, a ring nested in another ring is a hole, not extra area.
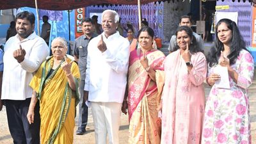
[[(248, 144), (251, 141), (247, 88), (253, 79), (252, 55), (242, 50), (231, 66), (238, 73), (237, 83), (229, 77), (230, 89), (212, 86), (206, 106), (202, 143)], [(207, 76), (214, 71), (209, 68)]]

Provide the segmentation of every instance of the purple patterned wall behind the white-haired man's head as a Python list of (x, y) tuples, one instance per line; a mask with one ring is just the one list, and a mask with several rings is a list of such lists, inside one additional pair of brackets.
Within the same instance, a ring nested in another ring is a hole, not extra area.
[[(159, 3), (148, 3), (141, 5), (141, 18), (146, 18), (148, 26), (154, 29), (155, 36), (163, 39), (163, 2)], [(115, 10), (121, 17), (121, 24), (126, 29), (127, 21), (131, 22), (135, 29), (135, 36), (139, 31), (139, 20), (138, 20), (138, 6), (127, 5), (127, 4), (108, 4), (99, 6), (87, 6), (86, 17), (92, 17), (92, 15), (101, 15), (104, 10)], [(98, 17), (98, 23), (100, 23)], [(124, 36), (126, 31), (124, 31)]]

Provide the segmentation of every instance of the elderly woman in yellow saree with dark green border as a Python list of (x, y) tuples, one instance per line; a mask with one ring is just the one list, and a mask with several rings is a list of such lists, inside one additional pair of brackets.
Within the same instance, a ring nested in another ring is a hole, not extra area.
[(36, 102), (40, 102), (41, 143), (73, 143), (75, 109), (79, 102), (79, 68), (67, 58), (67, 42), (55, 38), (52, 55), (40, 66), (31, 83), (33, 95), (28, 111), (29, 124), (33, 123)]

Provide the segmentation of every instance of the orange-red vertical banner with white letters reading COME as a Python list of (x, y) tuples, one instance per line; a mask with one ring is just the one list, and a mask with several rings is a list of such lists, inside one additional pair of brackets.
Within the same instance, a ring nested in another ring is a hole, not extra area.
[(78, 38), (83, 35), (82, 20), (84, 19), (84, 8), (77, 8), (75, 17), (75, 38)]

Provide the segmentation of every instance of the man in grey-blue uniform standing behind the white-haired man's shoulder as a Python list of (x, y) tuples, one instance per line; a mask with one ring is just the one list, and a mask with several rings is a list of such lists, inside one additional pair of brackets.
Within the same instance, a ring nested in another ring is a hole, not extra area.
[(92, 38), (96, 37), (97, 34), (93, 33), (95, 30), (95, 26), (92, 23), (92, 19), (86, 18), (82, 20), (82, 30), (84, 35), (79, 36), (74, 43), (73, 47), (73, 55), (75, 60), (78, 63), (79, 72), (81, 75), (81, 81), (79, 86), (80, 92), (80, 102), (79, 102), (79, 113), (78, 113), (78, 125), (76, 134), (81, 135), (86, 132), (86, 125), (88, 121), (88, 107), (84, 103), (83, 92), (84, 92), (84, 79), (86, 76), (86, 61), (87, 61), (87, 46), (92, 40)]

